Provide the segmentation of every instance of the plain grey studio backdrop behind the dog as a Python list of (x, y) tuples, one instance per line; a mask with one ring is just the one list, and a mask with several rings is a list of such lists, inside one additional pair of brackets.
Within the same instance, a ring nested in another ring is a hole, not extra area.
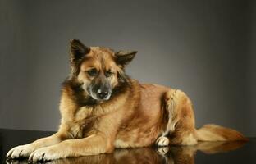
[(68, 44), (138, 50), (127, 68), (141, 82), (182, 89), (197, 127), (256, 136), (256, 3), (0, 1), (0, 128), (57, 130)]

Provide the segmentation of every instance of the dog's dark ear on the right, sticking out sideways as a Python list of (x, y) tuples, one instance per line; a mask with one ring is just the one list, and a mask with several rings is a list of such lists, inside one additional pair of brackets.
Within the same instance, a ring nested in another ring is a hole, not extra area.
[(119, 51), (115, 53), (118, 65), (126, 66), (135, 57), (137, 51)]

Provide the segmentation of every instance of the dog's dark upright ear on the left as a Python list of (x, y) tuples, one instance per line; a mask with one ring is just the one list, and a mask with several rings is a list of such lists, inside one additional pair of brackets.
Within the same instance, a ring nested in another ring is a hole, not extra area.
[(90, 48), (86, 47), (78, 39), (71, 40), (71, 62), (76, 62), (89, 53)]

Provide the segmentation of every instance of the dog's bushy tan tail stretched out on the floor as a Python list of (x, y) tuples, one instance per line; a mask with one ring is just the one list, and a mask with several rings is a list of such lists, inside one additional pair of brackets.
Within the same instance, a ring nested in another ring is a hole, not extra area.
[(235, 141), (249, 140), (243, 134), (236, 130), (222, 127), (220, 125), (203, 125), (202, 128), (196, 130), (199, 141)]

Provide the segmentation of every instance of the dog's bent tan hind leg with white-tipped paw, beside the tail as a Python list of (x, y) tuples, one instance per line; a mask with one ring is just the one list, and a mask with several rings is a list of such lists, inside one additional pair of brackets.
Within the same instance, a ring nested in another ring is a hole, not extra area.
[(168, 116), (167, 126), (156, 144), (158, 146), (197, 144), (190, 98), (181, 90), (170, 89), (164, 96), (164, 109)]

